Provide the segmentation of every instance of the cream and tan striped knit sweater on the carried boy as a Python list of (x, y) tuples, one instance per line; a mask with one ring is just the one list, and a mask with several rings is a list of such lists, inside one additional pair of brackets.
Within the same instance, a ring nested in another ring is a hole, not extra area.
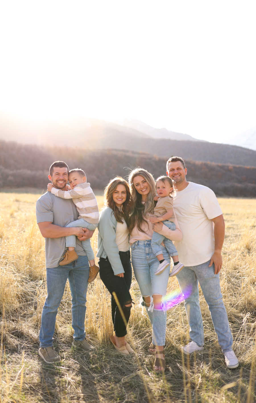
[(78, 218), (83, 218), (90, 224), (99, 223), (97, 200), (90, 187), (90, 183), (79, 183), (72, 190), (60, 190), (53, 187), (51, 193), (62, 197), (62, 199), (72, 199), (79, 213)]

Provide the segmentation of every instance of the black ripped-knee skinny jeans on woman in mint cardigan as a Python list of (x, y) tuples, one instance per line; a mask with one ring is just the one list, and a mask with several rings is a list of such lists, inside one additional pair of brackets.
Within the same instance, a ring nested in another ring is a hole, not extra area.
[(131, 307), (125, 305), (132, 301), (132, 297), (129, 292), (132, 283), (132, 267), (130, 261), (130, 251), (119, 252), (119, 256), (124, 268), (124, 277), (115, 276), (108, 258), (99, 258), (99, 276), (111, 294), (111, 313), (114, 331), (117, 337), (123, 337), (127, 333), (126, 326), (112, 293), (115, 291), (118, 301), (124, 312), (126, 322), (128, 323)]

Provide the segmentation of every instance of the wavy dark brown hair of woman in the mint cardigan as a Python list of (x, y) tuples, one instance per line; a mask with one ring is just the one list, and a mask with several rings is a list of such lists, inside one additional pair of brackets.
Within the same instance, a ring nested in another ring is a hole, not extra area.
[[(113, 200), (113, 193), (118, 187), (118, 185), (124, 185), (126, 189), (126, 201), (121, 205), (121, 210), (119, 210), (118, 206)], [(131, 212), (131, 192), (129, 183), (126, 182), (122, 177), (116, 177), (111, 179), (111, 181), (107, 184), (104, 189), (104, 198), (105, 198), (105, 207), (110, 207), (113, 212), (116, 220), (118, 222), (123, 222), (125, 220), (127, 227), (129, 227), (129, 215)]]

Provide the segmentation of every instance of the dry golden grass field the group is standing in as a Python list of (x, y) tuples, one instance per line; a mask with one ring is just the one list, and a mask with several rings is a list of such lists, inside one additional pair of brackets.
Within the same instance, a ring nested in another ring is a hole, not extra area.
[[(244, 402), (256, 401), (256, 199), (219, 202), (226, 222), (221, 287), (240, 361), (225, 367), (208, 307), (200, 293), (205, 347), (192, 357), (179, 346), (188, 340), (184, 303), (167, 312), (167, 372), (152, 370), (147, 354), (151, 327), (136, 302), (128, 340), (136, 358), (115, 354), (108, 341), (112, 331), (110, 297), (99, 276), (87, 293), (86, 331), (96, 346), (91, 353), (71, 348), (69, 286), (59, 308), (54, 347), (60, 365), (47, 365), (37, 355), (41, 310), (46, 296), (44, 239), (35, 221), (33, 193), (0, 193), (0, 402)], [(98, 196), (99, 206), (103, 199)], [(96, 231), (97, 232), (97, 231)], [(92, 238), (97, 249), (97, 235)], [(178, 289), (169, 279), (168, 292)]]

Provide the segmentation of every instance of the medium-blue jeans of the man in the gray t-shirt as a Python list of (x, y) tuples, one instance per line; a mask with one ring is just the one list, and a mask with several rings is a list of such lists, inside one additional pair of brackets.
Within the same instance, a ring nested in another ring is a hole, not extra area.
[(47, 298), (41, 316), (40, 347), (52, 346), (57, 310), (68, 279), (72, 295), (72, 328), (74, 339), (85, 339), (86, 292), (89, 264), (86, 256), (78, 256), (66, 266), (46, 269)]

